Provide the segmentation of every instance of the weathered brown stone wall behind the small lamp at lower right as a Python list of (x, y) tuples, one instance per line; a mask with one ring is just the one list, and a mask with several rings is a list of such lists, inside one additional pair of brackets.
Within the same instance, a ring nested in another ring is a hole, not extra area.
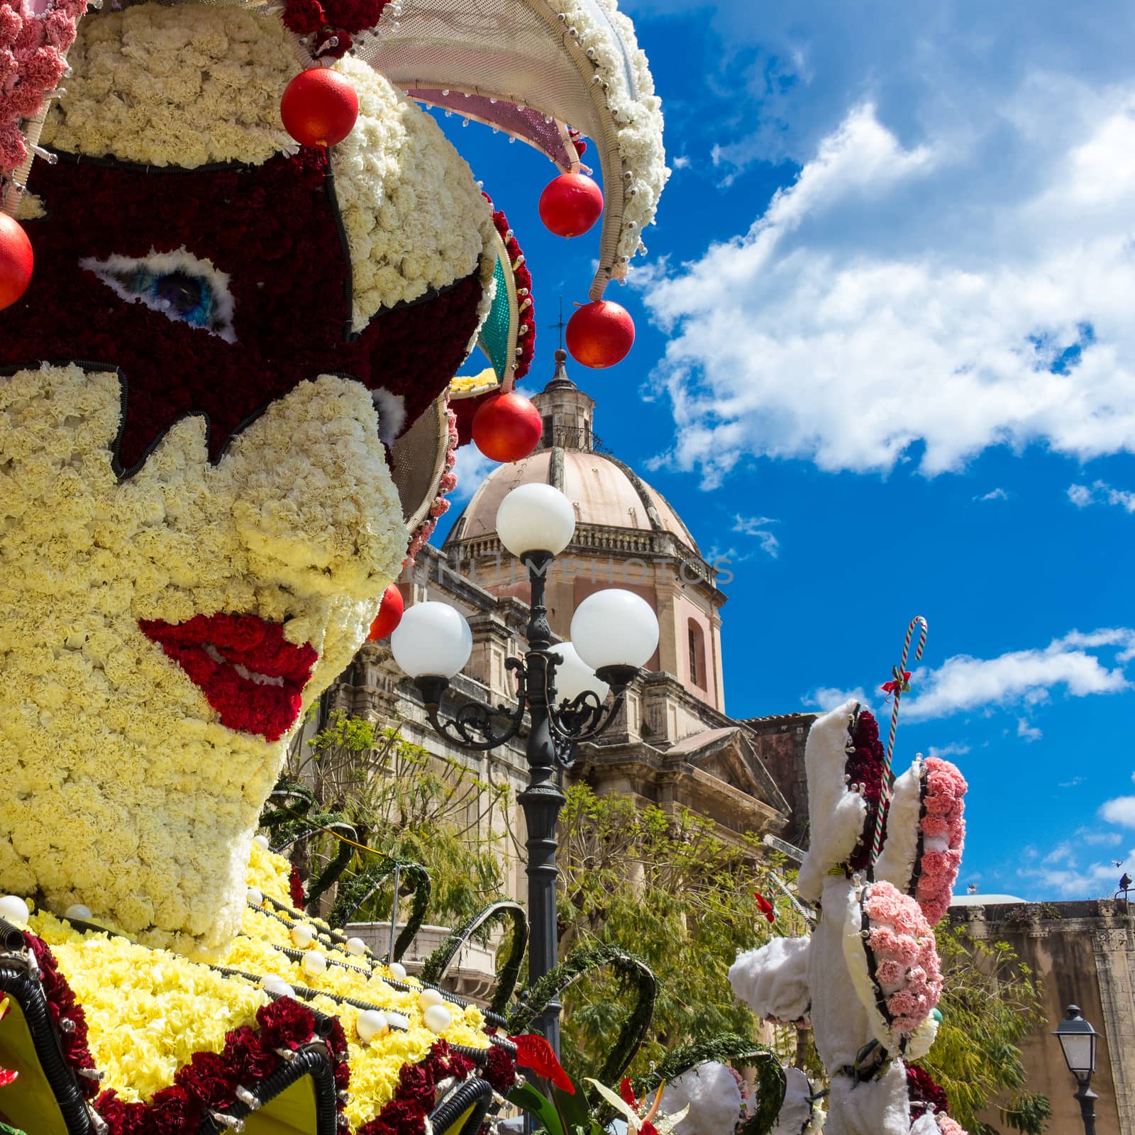
[[(1135, 1135), (1135, 918), (1123, 900), (955, 907), (977, 939), (1008, 942), (1041, 978), (1044, 1024), (1022, 1043), (1027, 1087), (1052, 1103), (1049, 1130), (1078, 1135), (1076, 1081), (1052, 1036), (1069, 1004), (1101, 1034), (1092, 1090), (1100, 1135)], [(995, 1113), (983, 1117), (1001, 1129)]]

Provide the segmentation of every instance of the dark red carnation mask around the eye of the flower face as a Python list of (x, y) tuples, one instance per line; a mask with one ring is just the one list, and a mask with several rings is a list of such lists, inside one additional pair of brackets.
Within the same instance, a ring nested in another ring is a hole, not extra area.
[[(0, 312), (0, 368), (117, 369), (123, 477), (191, 414), (207, 419), (216, 463), (272, 401), (322, 373), (401, 396), (409, 429), (445, 390), (477, 327), (474, 270), (350, 331), (351, 260), (326, 151), (194, 170), (61, 154), (56, 166), (35, 162), (31, 188), (47, 216), (26, 226), (36, 271)], [(178, 250), (227, 277), (232, 342), (129, 302), (82, 263)]]

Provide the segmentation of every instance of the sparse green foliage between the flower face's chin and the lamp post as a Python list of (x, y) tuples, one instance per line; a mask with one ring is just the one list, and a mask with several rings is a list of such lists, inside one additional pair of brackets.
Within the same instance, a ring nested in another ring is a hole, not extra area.
[[(372, 871), (384, 858), (421, 864), (432, 883), (429, 917), (449, 924), (471, 917), (503, 891), (493, 818), (507, 789), (459, 762), (431, 756), (396, 730), (333, 711), (306, 751), (300, 746), (293, 751), (285, 775), (309, 785), (317, 809), (348, 822), (356, 833), (353, 842), (371, 849), (353, 850), (346, 878)], [(286, 802), (278, 810), (286, 812)], [(303, 829), (303, 822), (293, 826)], [(321, 834), (295, 844), (292, 858), (310, 878), (343, 847), (342, 840)], [(409, 881), (404, 890), (410, 892)], [(380, 886), (354, 917), (389, 918), (392, 899), (392, 889)]]

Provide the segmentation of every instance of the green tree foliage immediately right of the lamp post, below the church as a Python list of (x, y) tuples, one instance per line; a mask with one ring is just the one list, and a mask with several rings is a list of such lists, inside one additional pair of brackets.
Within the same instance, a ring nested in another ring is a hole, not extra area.
[[(642, 958), (658, 980), (654, 1020), (632, 1070), (667, 1050), (723, 1033), (754, 1035), (753, 1015), (733, 998), (729, 967), (738, 950), (767, 941), (754, 888), (766, 849), (684, 809), (640, 807), (628, 796), (568, 789), (561, 816), (561, 957), (606, 944)], [(791, 917), (791, 916), (790, 916)], [(796, 933), (790, 922), (783, 933)], [(631, 1006), (602, 977), (575, 982), (564, 1002), (564, 1065), (594, 1075)], [(599, 1077), (602, 1078), (602, 1076)]]

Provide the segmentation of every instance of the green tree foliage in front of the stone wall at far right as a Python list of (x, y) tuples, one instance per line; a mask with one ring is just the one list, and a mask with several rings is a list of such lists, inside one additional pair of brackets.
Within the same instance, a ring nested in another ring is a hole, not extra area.
[(1006, 942), (980, 942), (965, 927), (942, 923), (942, 1024), (930, 1053), (918, 1061), (945, 1088), (950, 1115), (973, 1135), (998, 1135), (977, 1119), (997, 1096), (1012, 1093), (1001, 1120), (1025, 1135), (1041, 1135), (1051, 1116), (1048, 1100), (1025, 1091), (1017, 1046), (1043, 1023), (1040, 987)]

